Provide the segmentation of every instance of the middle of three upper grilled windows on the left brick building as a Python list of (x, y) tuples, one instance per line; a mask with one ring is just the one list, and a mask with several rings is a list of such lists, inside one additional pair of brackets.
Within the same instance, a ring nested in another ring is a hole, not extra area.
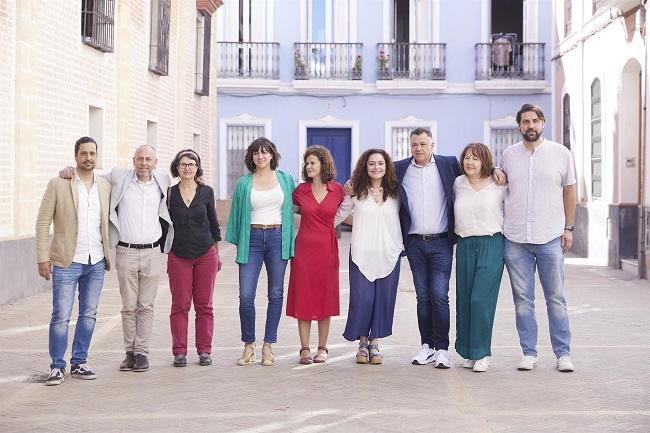
[(151, 43), (149, 70), (158, 75), (169, 72), (169, 21), (171, 0), (151, 0)]

